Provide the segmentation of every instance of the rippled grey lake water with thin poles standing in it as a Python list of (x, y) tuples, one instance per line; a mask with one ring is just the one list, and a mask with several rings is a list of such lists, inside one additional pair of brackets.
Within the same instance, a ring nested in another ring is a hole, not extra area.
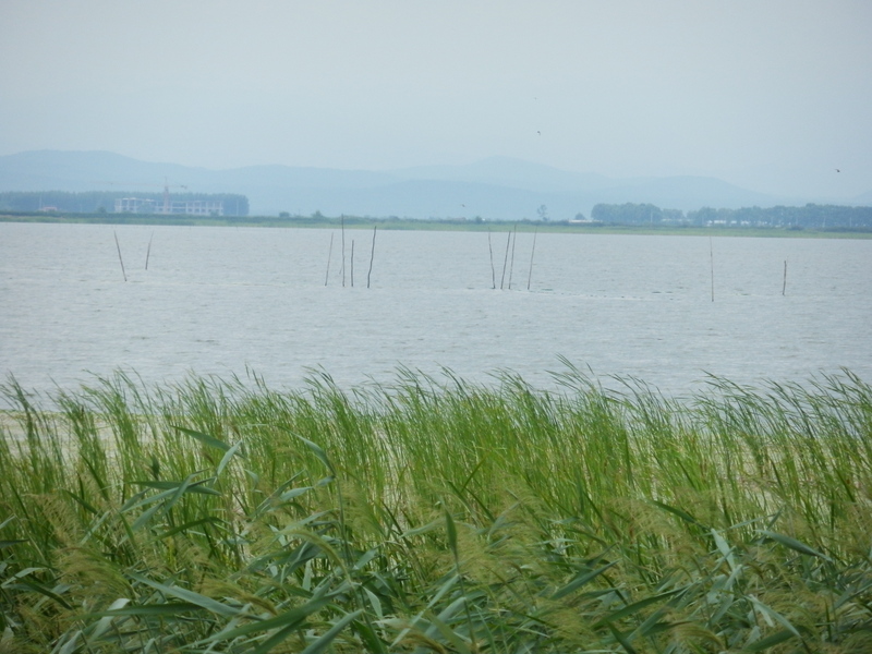
[(522, 233), (507, 256), (507, 238), (379, 230), (370, 274), (373, 232), (346, 230), (343, 286), (339, 230), (0, 223), (0, 374), (45, 392), (253, 370), (282, 389), (402, 365), (547, 388), (566, 358), (669, 395), (706, 373), (872, 380), (872, 240)]

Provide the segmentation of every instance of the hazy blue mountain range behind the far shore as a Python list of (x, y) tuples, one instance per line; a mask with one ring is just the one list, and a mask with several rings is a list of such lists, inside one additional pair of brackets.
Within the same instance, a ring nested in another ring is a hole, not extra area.
[[(613, 179), (519, 159), (491, 157), (467, 166), (388, 171), (250, 166), (228, 170), (148, 162), (107, 152), (36, 150), (0, 156), (0, 192), (129, 191), (132, 195), (186, 186), (194, 193), (240, 193), (252, 215), (355, 215), (410, 218), (536, 219), (590, 216), (597, 203), (651, 203), (693, 210), (703, 206), (872, 204), (856, 198), (778, 197), (705, 177)], [(180, 190), (180, 189), (179, 189)]]

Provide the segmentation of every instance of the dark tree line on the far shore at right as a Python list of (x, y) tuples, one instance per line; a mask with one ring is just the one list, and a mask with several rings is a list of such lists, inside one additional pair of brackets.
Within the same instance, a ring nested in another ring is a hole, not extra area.
[(797, 229), (870, 229), (872, 207), (807, 204), (801, 207), (743, 207), (695, 211), (662, 209), (652, 204), (597, 204), (591, 210), (595, 222), (611, 225), (688, 225), (725, 227), (780, 227)]

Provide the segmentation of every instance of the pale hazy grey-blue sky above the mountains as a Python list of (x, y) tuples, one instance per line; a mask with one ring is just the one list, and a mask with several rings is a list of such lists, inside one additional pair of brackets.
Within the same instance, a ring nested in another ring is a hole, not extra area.
[(872, 190), (872, 1), (0, 0), (0, 154), (28, 149), (847, 199)]

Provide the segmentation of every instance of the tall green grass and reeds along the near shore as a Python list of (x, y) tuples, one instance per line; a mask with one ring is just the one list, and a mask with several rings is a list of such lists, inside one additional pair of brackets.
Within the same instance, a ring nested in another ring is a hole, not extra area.
[(872, 651), (872, 388), (123, 374), (0, 422), (0, 652)]

